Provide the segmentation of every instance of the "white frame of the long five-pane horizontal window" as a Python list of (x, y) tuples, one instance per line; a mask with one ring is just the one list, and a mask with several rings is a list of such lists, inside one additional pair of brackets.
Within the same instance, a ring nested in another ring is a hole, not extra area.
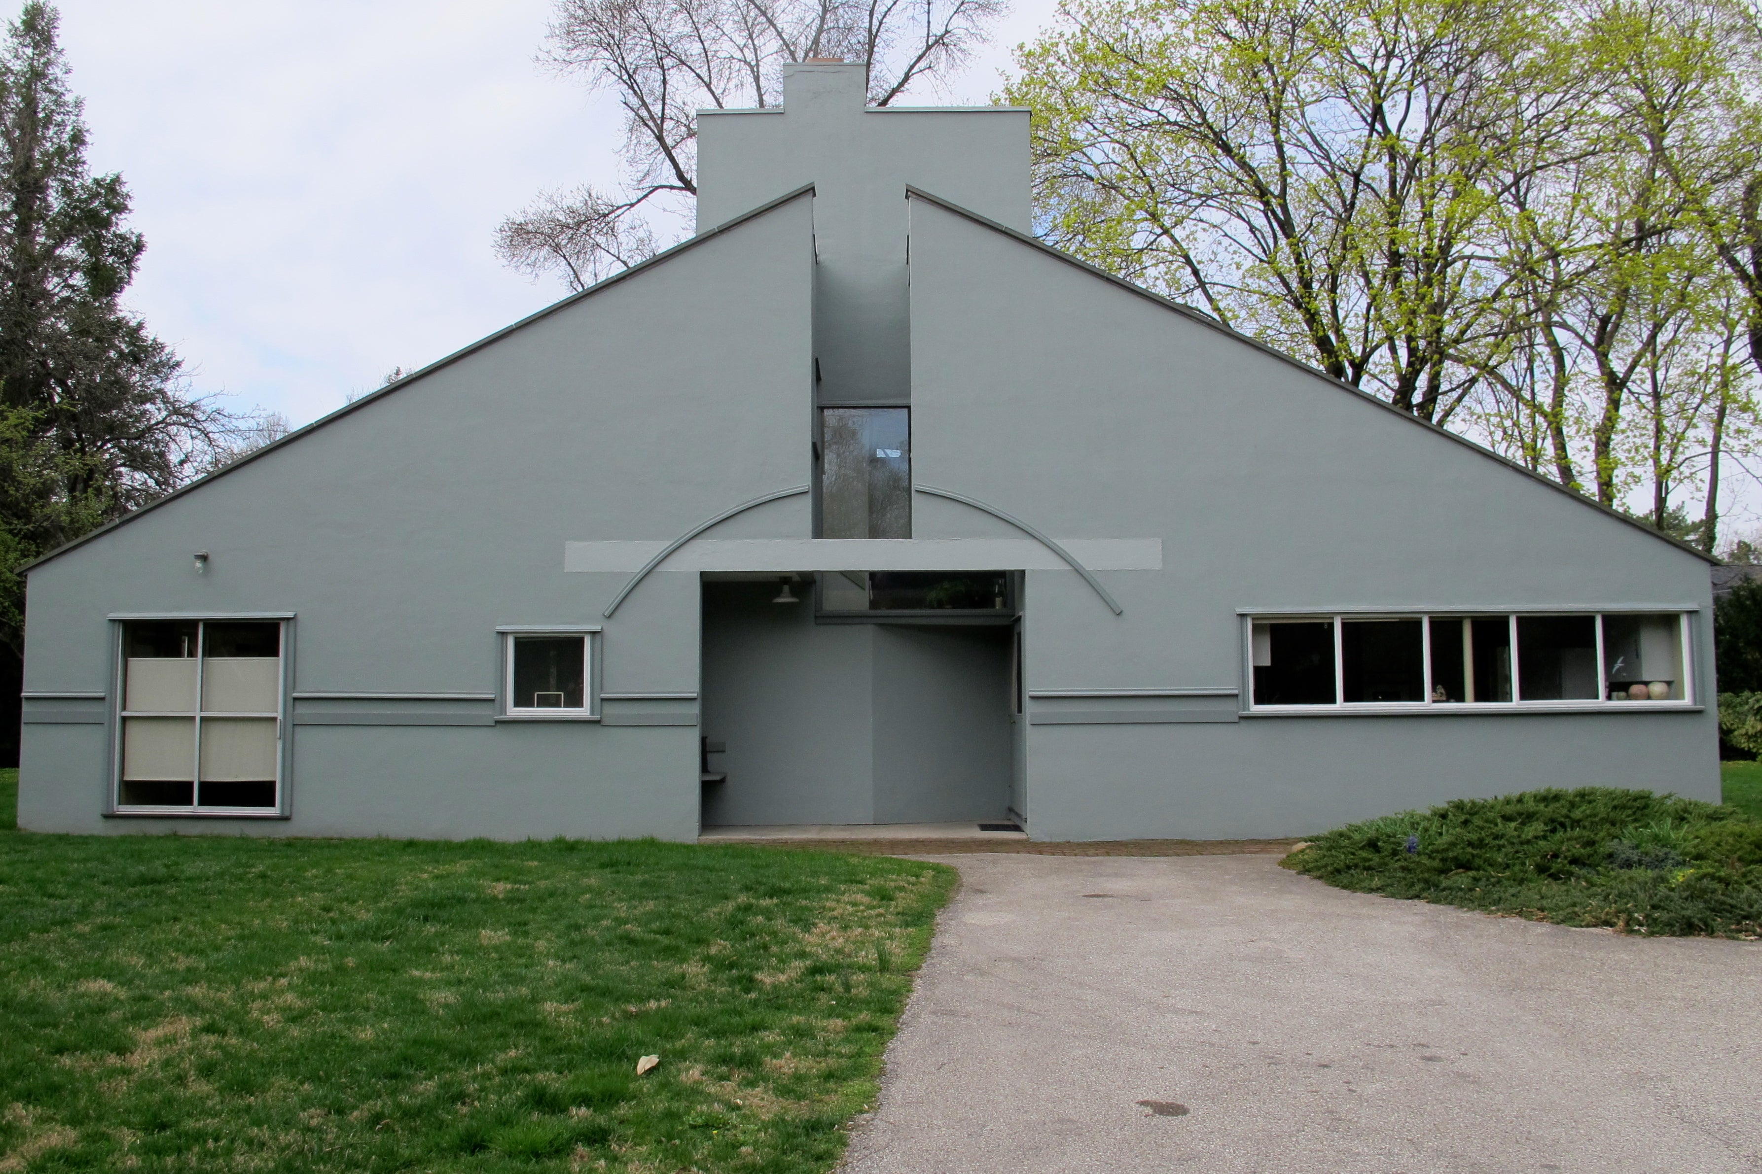
[[(1330, 713), (1582, 713), (1582, 711), (1683, 711), (1699, 709), (1695, 690), (1695, 648), (1692, 642), (1690, 607), (1603, 607), (1603, 609), (1536, 609), (1536, 611), (1487, 611), (1478, 607), (1440, 607), (1436, 611), (1242, 611), (1242, 664), (1247, 672), (1242, 695), (1247, 699), (1246, 713), (1267, 715), (1330, 715)], [(1605, 616), (1670, 616), (1677, 618), (1677, 642), (1683, 657), (1681, 697), (1669, 701), (1610, 701), (1609, 681), (1603, 665), (1603, 618)], [(1431, 621), (1438, 620), (1496, 620), (1505, 616), (1510, 628), (1512, 649), (1512, 701), (1433, 701), (1433, 648)], [(1517, 621), (1547, 616), (1591, 616), (1596, 630), (1596, 686), (1595, 699), (1579, 697), (1570, 701), (1524, 701), (1521, 665), (1517, 662)], [(1420, 671), (1424, 672), (1424, 701), (1343, 701), (1346, 695), (1346, 658), (1344, 658), (1344, 621), (1346, 620), (1418, 620), (1420, 621)], [(1316, 704), (1258, 704), (1255, 701), (1255, 625), (1256, 623), (1323, 623), (1334, 625), (1334, 701)]]

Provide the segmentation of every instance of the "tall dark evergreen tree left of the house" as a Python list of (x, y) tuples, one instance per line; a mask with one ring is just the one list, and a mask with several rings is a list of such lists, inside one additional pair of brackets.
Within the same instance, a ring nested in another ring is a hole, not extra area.
[(19, 569), (236, 459), (285, 422), (192, 398), (122, 305), (146, 245), (92, 174), (81, 102), (32, 0), (0, 44), (0, 646), (23, 655)]

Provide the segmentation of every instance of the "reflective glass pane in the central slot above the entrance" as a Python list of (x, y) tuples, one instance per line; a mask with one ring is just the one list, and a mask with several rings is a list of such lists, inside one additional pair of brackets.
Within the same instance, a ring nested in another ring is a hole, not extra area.
[(819, 537), (911, 537), (911, 412), (821, 412)]

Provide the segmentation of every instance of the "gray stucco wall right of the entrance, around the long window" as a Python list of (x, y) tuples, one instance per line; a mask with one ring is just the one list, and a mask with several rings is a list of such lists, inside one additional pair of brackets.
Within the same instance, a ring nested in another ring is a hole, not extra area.
[[(1240, 688), (1239, 609), (1699, 609), (1707, 565), (1330, 380), (929, 201), (911, 202), (914, 477), (1159, 572), (1027, 574), (1031, 692)], [(920, 537), (973, 533), (920, 495)], [(1050, 702), (1031, 702), (1045, 713)], [(1718, 799), (1716, 715), (1247, 716), (1027, 730), (1047, 840), (1283, 836), (1452, 796)]]

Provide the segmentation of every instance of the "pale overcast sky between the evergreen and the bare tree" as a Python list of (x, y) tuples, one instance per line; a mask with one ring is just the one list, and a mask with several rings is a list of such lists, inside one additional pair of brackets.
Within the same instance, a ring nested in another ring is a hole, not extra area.
[[(92, 165), (146, 234), (127, 301), (197, 391), (305, 424), (566, 292), (490, 252), (539, 190), (618, 176), (615, 106), (534, 62), (550, 9), (63, 0)], [(985, 102), (1052, 11), (1020, 4), (950, 97)]]

